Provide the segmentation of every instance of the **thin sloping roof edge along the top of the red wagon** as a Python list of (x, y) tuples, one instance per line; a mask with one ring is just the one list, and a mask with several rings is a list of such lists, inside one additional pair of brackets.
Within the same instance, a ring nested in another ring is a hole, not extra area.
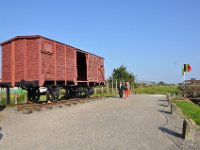
[[(14, 40), (17, 40), (17, 39), (35, 39), (35, 38), (44, 38), (44, 39), (47, 39), (47, 40), (50, 40), (50, 41), (54, 41), (54, 42), (57, 42), (57, 43), (61, 43), (61, 44), (67, 45), (67, 46), (69, 46), (69, 47), (71, 47), (71, 48), (75, 48), (75, 49), (77, 49), (78, 51), (81, 51), (81, 52), (84, 52), (84, 53), (88, 53), (88, 54), (91, 54), (91, 55), (94, 55), (94, 56), (103, 58), (103, 57), (101, 57), (101, 56), (98, 56), (98, 55), (95, 55), (95, 54), (92, 54), (92, 53), (83, 51), (83, 50), (81, 50), (81, 49), (79, 49), (79, 48), (73, 47), (73, 46), (71, 46), (71, 45), (68, 45), (68, 44), (65, 44), (65, 43), (62, 43), (62, 42), (59, 42), (59, 41), (56, 41), (56, 40), (52, 40), (52, 39), (43, 37), (43, 36), (41, 36), (41, 35), (16, 36), (16, 37), (14, 37), (14, 38), (12, 38), (12, 39), (9, 39), (9, 40), (7, 40), (7, 41), (4, 41), (4, 42), (0, 43), (0, 45), (3, 46), (3, 45), (5, 45), (5, 44), (7, 44), (7, 43), (9, 43), (9, 42), (12, 42), (12, 41), (14, 41)], [(104, 59), (104, 58), (103, 58), (103, 59)]]

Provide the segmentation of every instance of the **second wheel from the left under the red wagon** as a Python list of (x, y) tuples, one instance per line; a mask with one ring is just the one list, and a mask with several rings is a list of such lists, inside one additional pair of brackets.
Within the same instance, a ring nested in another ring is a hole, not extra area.
[(58, 98), (60, 96), (59, 89), (58, 88), (48, 89), (46, 95), (47, 95), (47, 101), (50, 100), (51, 102), (56, 102), (58, 101)]

